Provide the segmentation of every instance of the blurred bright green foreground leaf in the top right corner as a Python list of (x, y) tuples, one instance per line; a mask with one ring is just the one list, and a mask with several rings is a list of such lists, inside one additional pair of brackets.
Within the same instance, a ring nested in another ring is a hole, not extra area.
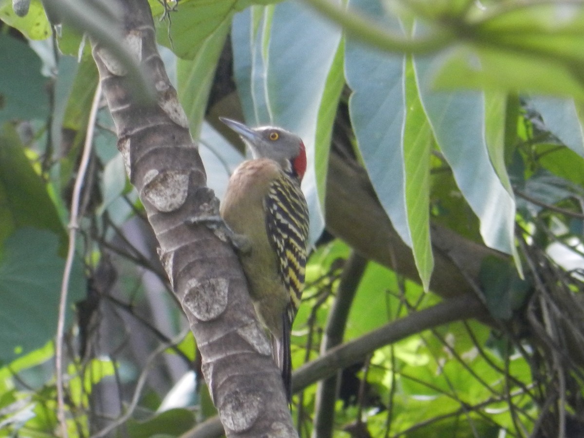
[(437, 86), (528, 91), (584, 99), (584, 9), (516, 2), (477, 11), (468, 44), (445, 51)]

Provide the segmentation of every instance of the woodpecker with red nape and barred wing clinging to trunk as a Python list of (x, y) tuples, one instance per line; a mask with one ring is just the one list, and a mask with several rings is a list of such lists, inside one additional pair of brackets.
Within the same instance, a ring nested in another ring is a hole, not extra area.
[(249, 244), (249, 251), (240, 251), (239, 259), (290, 401), (290, 331), (300, 305), (307, 258), (308, 207), (300, 189), (306, 151), (300, 137), (282, 128), (249, 128), (220, 119), (252, 151), (253, 159), (231, 175), (220, 213), (228, 227)]

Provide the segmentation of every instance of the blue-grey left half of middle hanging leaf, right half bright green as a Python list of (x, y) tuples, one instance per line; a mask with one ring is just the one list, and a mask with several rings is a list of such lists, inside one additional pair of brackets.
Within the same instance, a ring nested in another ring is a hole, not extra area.
[[(384, 16), (378, 2), (352, 0), (370, 16)], [(392, 21), (391, 23), (395, 23)], [(345, 75), (353, 91), (349, 114), (363, 164), (402, 240), (412, 246), (405, 206), (402, 130), (405, 121), (405, 58), (347, 38)]]

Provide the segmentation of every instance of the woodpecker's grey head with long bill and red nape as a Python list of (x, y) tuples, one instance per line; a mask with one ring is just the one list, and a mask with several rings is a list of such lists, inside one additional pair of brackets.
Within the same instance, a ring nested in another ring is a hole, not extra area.
[(306, 171), (306, 149), (298, 135), (274, 126), (250, 128), (238, 121), (219, 117), (223, 123), (239, 134), (252, 151), (253, 158), (270, 158), (285, 171), (296, 173), (302, 179)]

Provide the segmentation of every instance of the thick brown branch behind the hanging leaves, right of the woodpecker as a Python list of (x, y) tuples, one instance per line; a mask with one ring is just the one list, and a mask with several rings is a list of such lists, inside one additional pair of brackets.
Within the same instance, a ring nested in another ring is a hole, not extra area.
[[(366, 171), (335, 150), (330, 154), (325, 206), (326, 227), (335, 237), (364, 258), (420, 283), (412, 250), (395, 231)], [(467, 278), (478, 283), (486, 256), (508, 257), (437, 224), (432, 224), (432, 248), (434, 271), (430, 290), (443, 298), (473, 293)]]

